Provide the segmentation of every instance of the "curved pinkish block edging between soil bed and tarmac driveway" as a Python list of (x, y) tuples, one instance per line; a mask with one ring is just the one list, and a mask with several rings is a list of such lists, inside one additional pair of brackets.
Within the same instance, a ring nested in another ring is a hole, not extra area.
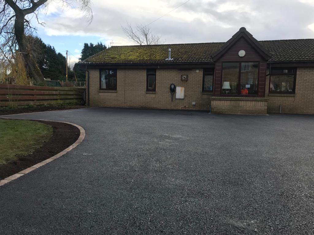
[(35, 170), (43, 165), (46, 165), (48, 162), (51, 162), (53, 161), (54, 159), (57, 159), (59, 157), (61, 157), (62, 155), (66, 154), (67, 152), (69, 152), (70, 150), (74, 149), (76, 146), (78, 146), (82, 141), (83, 139), (85, 138), (85, 130), (83, 127), (79, 126), (79, 125), (76, 125), (74, 123), (68, 123), (68, 122), (58, 122), (58, 121), (50, 121), (50, 120), (42, 120), (42, 119), (23, 119), (23, 120), (37, 120), (37, 121), (49, 121), (49, 122), (57, 122), (57, 123), (67, 123), (67, 124), (70, 124), (70, 125), (73, 125), (75, 127), (77, 127), (79, 130), (80, 130), (80, 136), (78, 137), (78, 139), (74, 142), (74, 144), (70, 145), (68, 148), (64, 149), (63, 151), (61, 151), (60, 153), (52, 156), (51, 158), (48, 158), (40, 163), (37, 163), (25, 170), (22, 170), (20, 171), (19, 173), (16, 173), (14, 175), (11, 175), (3, 180), (0, 180), (0, 186), (12, 181), (12, 180), (15, 180), (19, 177), (21, 177), (22, 175), (25, 175), (29, 172), (31, 172), (32, 170)]

